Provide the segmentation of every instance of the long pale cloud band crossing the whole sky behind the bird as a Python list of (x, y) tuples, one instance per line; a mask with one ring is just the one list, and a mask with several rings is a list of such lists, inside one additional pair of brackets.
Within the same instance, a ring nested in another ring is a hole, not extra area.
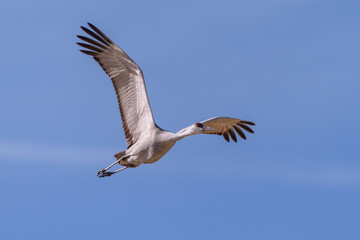
[[(94, 149), (64, 145), (41, 144), (0, 140), (0, 161), (46, 162), (47, 164), (73, 164), (94, 166), (103, 163), (105, 166), (113, 149)], [(296, 162), (296, 165), (290, 163)], [(283, 184), (322, 185), (322, 186), (360, 186), (360, 167), (315, 164), (317, 161), (277, 161), (276, 163), (240, 161), (236, 166), (213, 164), (166, 164), (166, 170), (152, 168), (157, 173), (183, 174), (196, 172), (201, 175), (212, 175), (221, 178), (236, 177), (247, 181), (272, 181)], [(164, 165), (163, 165), (164, 166)]]

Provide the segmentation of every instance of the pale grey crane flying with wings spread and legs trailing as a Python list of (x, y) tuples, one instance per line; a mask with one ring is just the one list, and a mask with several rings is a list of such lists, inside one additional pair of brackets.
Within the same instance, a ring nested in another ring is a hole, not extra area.
[[(98, 177), (109, 177), (127, 168), (154, 163), (177, 141), (191, 135), (217, 134), (228, 142), (230, 138), (237, 142), (235, 132), (244, 140), (246, 136), (243, 130), (254, 133), (249, 127), (255, 125), (253, 122), (230, 117), (213, 117), (195, 122), (176, 133), (160, 128), (154, 121), (140, 67), (93, 24), (88, 23), (88, 28), (80, 27), (87, 34), (77, 35), (82, 40), (77, 44), (84, 48), (80, 51), (92, 56), (112, 81), (127, 143), (125, 151), (114, 155), (116, 161), (113, 164), (97, 172)], [(122, 168), (108, 171), (116, 164), (120, 164)]]

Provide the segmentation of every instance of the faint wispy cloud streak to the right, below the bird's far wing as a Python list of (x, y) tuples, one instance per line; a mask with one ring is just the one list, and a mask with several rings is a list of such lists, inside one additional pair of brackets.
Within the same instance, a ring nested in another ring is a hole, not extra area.
[[(211, 175), (219, 178), (236, 178), (236, 181), (245, 182), (271, 182), (282, 185), (307, 185), (307, 186), (360, 186), (360, 166), (345, 165), (343, 161), (328, 163), (316, 159), (291, 159), (276, 162), (265, 162), (259, 159), (239, 161), (231, 166), (229, 162), (218, 164), (193, 164), (189, 166), (176, 165), (173, 171), (193, 172), (194, 174)], [(170, 171), (171, 171), (170, 170)]]

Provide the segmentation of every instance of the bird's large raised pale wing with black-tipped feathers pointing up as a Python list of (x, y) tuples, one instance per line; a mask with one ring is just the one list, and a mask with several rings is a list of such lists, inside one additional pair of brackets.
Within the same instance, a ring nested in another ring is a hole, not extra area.
[(92, 30), (81, 28), (92, 38), (78, 35), (86, 43), (77, 44), (86, 48), (80, 51), (93, 56), (111, 78), (129, 148), (141, 134), (147, 134), (155, 126), (144, 76), (140, 67), (119, 46), (97, 27), (88, 24)]

